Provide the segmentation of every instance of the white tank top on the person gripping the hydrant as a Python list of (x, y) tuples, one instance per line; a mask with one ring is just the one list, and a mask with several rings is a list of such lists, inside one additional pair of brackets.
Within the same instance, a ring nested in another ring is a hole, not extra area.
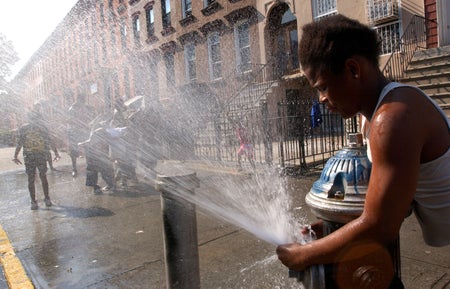
[[(419, 90), (414, 86), (397, 82), (389, 83), (381, 91), (374, 113), (383, 101), (383, 98), (390, 91), (398, 87), (412, 87)], [(450, 131), (450, 119), (431, 97), (423, 91), (419, 91), (441, 113)], [(367, 155), (372, 161), (370, 142), (368, 139), (369, 129), (366, 130)], [(425, 242), (430, 246), (445, 246), (450, 244), (450, 148), (437, 159), (420, 165), (414, 201), (414, 213), (422, 228)]]

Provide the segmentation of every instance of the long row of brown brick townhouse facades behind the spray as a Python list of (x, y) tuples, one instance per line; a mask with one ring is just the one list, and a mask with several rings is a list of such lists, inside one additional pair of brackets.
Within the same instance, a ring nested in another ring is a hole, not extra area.
[[(239, 118), (236, 111), (264, 103), (269, 115), (276, 115), (279, 102), (307, 99), (309, 106), (316, 98), (298, 62), (304, 24), (340, 13), (373, 26), (384, 65), (414, 15), (448, 19), (445, 5), (441, 0), (79, 0), (14, 83), (25, 107), (44, 99), (57, 123), (80, 94), (99, 113), (111, 110), (117, 98), (142, 95), (146, 102), (190, 114), (226, 108)], [(448, 31), (438, 32), (429, 37), (429, 47), (448, 41), (441, 35)]]

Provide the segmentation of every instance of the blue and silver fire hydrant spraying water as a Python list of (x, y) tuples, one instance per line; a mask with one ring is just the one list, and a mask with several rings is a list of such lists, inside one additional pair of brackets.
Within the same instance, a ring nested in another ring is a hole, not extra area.
[[(361, 215), (371, 168), (360, 133), (350, 134), (349, 145), (327, 161), (305, 198), (323, 221), (324, 236)], [(321, 265), (323, 275), (312, 275), (315, 280), (309, 283), (319, 286), (304, 283), (305, 288), (387, 288), (394, 277), (400, 279), (398, 238), (387, 247), (362, 243), (343, 251), (335, 263)]]

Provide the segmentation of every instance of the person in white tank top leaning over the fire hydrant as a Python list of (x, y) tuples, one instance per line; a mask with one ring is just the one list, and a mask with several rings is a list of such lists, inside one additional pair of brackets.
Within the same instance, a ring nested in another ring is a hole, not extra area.
[[(336, 264), (368, 254), (358, 250), (363, 246), (395, 242), (411, 207), (428, 245), (450, 244), (450, 121), (418, 88), (386, 79), (379, 52), (376, 32), (342, 15), (303, 28), (299, 54), (306, 78), (330, 111), (367, 119), (372, 171), (358, 218), (314, 242), (277, 247), (290, 269)], [(377, 288), (403, 288), (393, 275)]]

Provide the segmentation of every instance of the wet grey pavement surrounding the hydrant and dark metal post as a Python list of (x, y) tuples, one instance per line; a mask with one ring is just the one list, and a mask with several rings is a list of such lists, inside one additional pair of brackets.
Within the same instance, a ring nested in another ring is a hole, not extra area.
[[(36, 288), (166, 288), (161, 200), (154, 183), (142, 180), (127, 190), (95, 195), (84, 186), (83, 159), (79, 177), (72, 178), (69, 157), (62, 153), (55, 164), (59, 171), (48, 173), (54, 206), (43, 204), (37, 180), (40, 208), (31, 211), (25, 172), (11, 162), (12, 154), (11, 148), (0, 149), (0, 224)], [(242, 177), (202, 165), (190, 169), (200, 181), (217, 174)], [(294, 206), (304, 208), (301, 214), (311, 221), (304, 194), (317, 177), (288, 180)], [(302, 288), (288, 278), (273, 245), (201, 208), (197, 231), (201, 288)], [(450, 246), (426, 246), (414, 217), (405, 221), (400, 239), (406, 288), (450, 288)]]

